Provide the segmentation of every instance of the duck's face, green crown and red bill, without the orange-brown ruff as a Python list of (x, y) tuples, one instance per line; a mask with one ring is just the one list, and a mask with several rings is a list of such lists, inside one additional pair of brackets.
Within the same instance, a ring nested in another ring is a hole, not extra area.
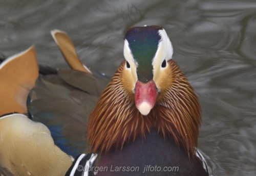
[(172, 44), (162, 27), (135, 27), (125, 35), (123, 54), (125, 87), (134, 92), (136, 108), (146, 116), (161, 91), (159, 76), (160, 72), (164, 74), (167, 61), (172, 59)]

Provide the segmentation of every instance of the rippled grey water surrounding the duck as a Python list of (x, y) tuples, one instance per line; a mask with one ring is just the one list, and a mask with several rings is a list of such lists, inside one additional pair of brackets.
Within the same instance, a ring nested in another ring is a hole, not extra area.
[(60, 29), (84, 64), (112, 76), (126, 30), (144, 24), (165, 28), (198, 93), (212, 175), (256, 175), (256, 1), (0, 0), (0, 56), (35, 44), (40, 64), (68, 67), (50, 35)]

